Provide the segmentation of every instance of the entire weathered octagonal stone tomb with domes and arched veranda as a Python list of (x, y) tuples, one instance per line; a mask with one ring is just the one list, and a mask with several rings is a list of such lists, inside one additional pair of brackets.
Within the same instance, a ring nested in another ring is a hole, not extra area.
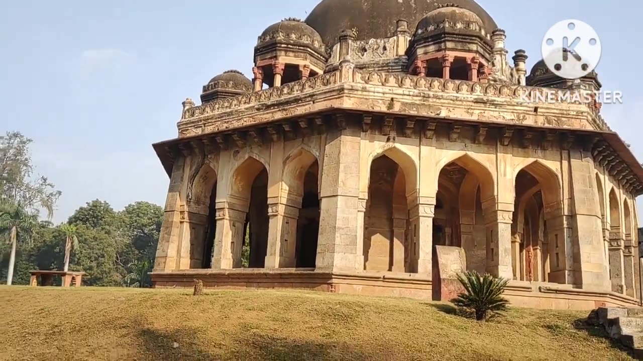
[(323, 0), (269, 26), (253, 79), (215, 76), (154, 145), (154, 286), (446, 299), (477, 270), (518, 306), (636, 304), (643, 167), (597, 101), (543, 101), (597, 75), (507, 53), (473, 0)]

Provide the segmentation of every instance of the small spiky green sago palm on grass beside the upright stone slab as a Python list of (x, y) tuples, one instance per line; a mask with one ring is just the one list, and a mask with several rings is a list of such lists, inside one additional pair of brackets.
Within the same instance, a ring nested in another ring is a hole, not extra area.
[(458, 281), (464, 287), (464, 292), (452, 299), (451, 303), (475, 313), (477, 321), (487, 319), (489, 313), (500, 313), (507, 309), (509, 301), (502, 297), (502, 293), (509, 279), (490, 274), (480, 276), (476, 271), (467, 271), (458, 274)]

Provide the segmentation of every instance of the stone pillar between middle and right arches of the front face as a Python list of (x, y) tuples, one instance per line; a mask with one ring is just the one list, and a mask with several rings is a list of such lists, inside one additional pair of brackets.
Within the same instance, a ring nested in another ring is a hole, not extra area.
[(511, 223), (513, 211), (487, 209), (487, 272), (496, 277), (513, 279), (511, 262)]

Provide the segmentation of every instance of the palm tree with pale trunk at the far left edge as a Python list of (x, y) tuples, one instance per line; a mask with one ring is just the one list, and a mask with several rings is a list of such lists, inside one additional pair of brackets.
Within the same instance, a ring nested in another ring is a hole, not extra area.
[(7, 285), (11, 285), (14, 280), (15, 249), (18, 240), (30, 242), (37, 227), (38, 216), (27, 211), (20, 202), (0, 199), (0, 235), (6, 236), (11, 244), (9, 270), (6, 274)]

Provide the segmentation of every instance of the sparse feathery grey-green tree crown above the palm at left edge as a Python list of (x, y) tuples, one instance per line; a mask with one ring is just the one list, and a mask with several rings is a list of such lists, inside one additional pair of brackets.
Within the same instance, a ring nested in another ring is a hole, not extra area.
[(30, 213), (45, 209), (51, 218), (61, 193), (47, 177), (34, 177), (29, 152), (32, 142), (20, 132), (0, 137), (0, 198), (14, 200)]

